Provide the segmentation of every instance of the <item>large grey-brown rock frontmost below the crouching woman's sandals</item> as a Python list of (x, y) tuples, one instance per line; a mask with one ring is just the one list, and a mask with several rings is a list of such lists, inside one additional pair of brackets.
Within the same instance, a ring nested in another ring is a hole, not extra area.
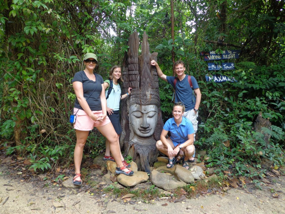
[(187, 185), (184, 181), (178, 181), (174, 175), (170, 176), (157, 170), (151, 172), (151, 182), (166, 191)]

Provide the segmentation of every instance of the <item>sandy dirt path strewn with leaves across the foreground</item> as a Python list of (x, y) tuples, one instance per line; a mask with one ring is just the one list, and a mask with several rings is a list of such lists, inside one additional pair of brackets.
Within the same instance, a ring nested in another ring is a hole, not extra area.
[[(0, 166), (0, 213), (239, 213), (239, 214), (285, 214), (285, 178), (276, 177), (263, 190), (255, 188), (230, 189), (224, 194), (202, 194), (196, 199), (185, 199), (172, 203), (155, 199), (145, 203), (140, 199), (124, 202), (114, 199), (103, 191), (77, 193), (63, 186), (45, 186), (40, 179), (25, 182), (11, 179), (9, 170)], [(84, 189), (84, 187), (82, 187)], [(79, 190), (80, 191), (80, 190)], [(6, 202), (5, 202), (6, 201)], [(4, 203), (5, 202), (5, 203)]]

